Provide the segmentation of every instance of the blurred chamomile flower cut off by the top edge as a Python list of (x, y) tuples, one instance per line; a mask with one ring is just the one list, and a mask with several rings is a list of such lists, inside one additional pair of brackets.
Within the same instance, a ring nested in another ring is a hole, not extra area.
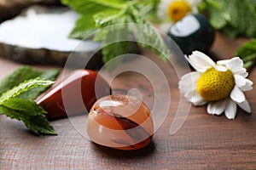
[(157, 10), (160, 21), (164, 23), (161, 27), (166, 30), (186, 14), (197, 13), (199, 3), (201, 0), (161, 0)]

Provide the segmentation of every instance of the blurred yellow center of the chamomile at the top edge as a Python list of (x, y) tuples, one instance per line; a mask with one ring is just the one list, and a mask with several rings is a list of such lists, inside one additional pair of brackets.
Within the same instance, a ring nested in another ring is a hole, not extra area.
[(174, 22), (181, 20), (191, 11), (190, 5), (185, 0), (174, 0), (168, 7), (168, 16)]

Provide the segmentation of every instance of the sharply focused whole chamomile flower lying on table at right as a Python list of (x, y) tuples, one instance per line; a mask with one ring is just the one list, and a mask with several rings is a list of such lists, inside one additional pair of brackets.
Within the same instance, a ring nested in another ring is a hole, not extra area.
[(224, 113), (228, 119), (236, 117), (236, 105), (251, 112), (243, 92), (251, 90), (253, 82), (246, 78), (248, 73), (239, 57), (216, 64), (206, 54), (194, 51), (186, 59), (195, 71), (184, 75), (178, 88), (189, 102), (196, 106), (207, 104), (209, 114)]

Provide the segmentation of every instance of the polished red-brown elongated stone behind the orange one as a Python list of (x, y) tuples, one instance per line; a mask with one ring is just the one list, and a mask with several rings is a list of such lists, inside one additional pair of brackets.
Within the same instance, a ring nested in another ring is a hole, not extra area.
[(77, 70), (50, 88), (36, 102), (48, 112), (48, 119), (56, 119), (67, 117), (67, 113), (73, 116), (90, 111), (96, 99), (109, 95), (110, 91), (108, 82), (95, 71)]

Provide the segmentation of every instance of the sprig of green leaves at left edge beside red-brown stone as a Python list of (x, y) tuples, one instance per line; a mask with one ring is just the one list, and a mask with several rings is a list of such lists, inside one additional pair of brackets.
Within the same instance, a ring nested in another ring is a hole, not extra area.
[(32, 99), (49, 88), (58, 74), (56, 69), (38, 71), (21, 66), (4, 77), (0, 80), (0, 114), (24, 122), (36, 134), (56, 134), (47, 112)]

